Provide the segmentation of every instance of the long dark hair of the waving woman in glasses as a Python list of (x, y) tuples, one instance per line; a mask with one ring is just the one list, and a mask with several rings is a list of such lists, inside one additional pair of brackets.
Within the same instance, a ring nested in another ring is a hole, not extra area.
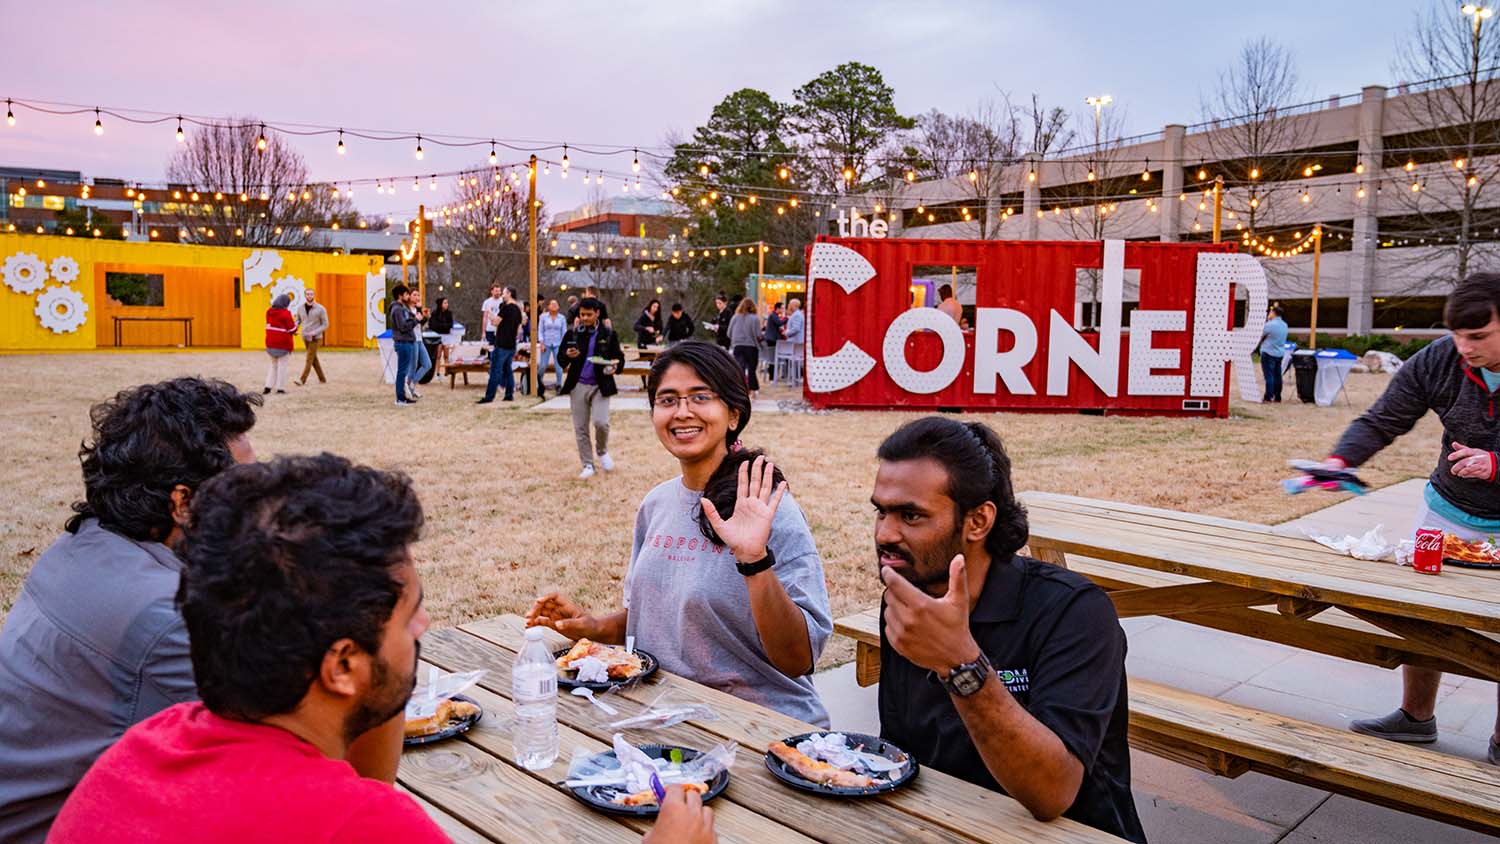
[[(724, 435), (729, 454), (718, 463), (704, 487), (704, 498), (714, 502), (714, 510), (728, 520), (734, 516), (735, 501), (740, 498), (740, 465), (765, 454), (759, 448), (744, 448), (740, 444), (740, 433), (750, 424), (750, 390), (746, 387), (744, 370), (740, 369), (740, 361), (722, 346), (702, 340), (678, 343), (657, 355), (656, 361), (651, 363), (651, 373), (646, 375), (646, 402), (656, 403), (656, 391), (662, 385), (662, 376), (675, 363), (692, 367), (730, 411), (740, 411), (740, 420)], [(782, 474), (780, 466), (772, 466), (771, 478), (774, 483), (782, 483), (786, 475)], [(698, 529), (708, 541), (723, 544), (702, 510), (698, 511)]]

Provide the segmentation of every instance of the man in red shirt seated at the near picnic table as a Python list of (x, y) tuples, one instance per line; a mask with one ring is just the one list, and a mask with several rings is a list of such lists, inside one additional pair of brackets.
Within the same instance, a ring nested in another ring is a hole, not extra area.
[[(177, 594), (202, 700), (130, 727), (48, 841), (448, 841), (411, 798), (345, 762), (416, 685), (428, 612), (408, 547), (422, 522), (405, 475), (333, 454), (206, 481)], [(386, 732), (399, 753), (400, 733)], [(646, 844), (712, 840), (711, 810), (674, 793)]]

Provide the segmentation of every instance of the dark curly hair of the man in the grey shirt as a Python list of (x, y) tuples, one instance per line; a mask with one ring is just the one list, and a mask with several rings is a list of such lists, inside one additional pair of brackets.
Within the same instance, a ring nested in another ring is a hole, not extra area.
[(93, 441), (78, 447), (84, 501), (74, 502), (68, 531), (84, 519), (136, 541), (172, 532), (172, 489), (196, 490), (234, 465), (230, 441), (255, 426), (261, 397), (208, 378), (176, 378), (122, 390), (88, 411)]

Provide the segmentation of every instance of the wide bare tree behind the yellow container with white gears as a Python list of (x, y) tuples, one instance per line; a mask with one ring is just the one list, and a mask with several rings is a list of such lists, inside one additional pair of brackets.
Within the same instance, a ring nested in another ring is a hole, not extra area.
[(189, 132), (166, 178), (182, 193), (177, 226), (196, 243), (315, 247), (322, 226), (356, 222), (352, 202), (310, 183), (302, 154), (254, 117)]

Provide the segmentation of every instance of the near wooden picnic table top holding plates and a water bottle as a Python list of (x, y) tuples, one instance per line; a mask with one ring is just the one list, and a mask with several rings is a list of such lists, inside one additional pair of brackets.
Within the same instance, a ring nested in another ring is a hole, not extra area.
[[(558, 697), (558, 762), (538, 772), (514, 763), (508, 721), (510, 667), (522, 645), (522, 619), (500, 616), (458, 628), (432, 630), (422, 639), (424, 664), (447, 672), (484, 669), (470, 697), (484, 708), (468, 733), (446, 742), (408, 748), (398, 783), (460, 844), (486, 841), (639, 843), (648, 820), (600, 814), (564, 792), (560, 783), (574, 751), (608, 750), (614, 732), (586, 700)], [(549, 631), (550, 633), (550, 631)], [(567, 645), (552, 634), (552, 648)], [(424, 667), (423, 667), (424, 670)], [(778, 844), (813, 841), (948, 841), (1086, 844), (1118, 841), (1092, 828), (1059, 819), (1035, 820), (1018, 802), (924, 769), (906, 787), (860, 801), (822, 798), (788, 789), (766, 771), (762, 757), (771, 741), (813, 730), (795, 718), (747, 703), (668, 672), (609, 694), (618, 718), (638, 715), (663, 690), (711, 706), (720, 720), (688, 721), (666, 730), (627, 732), (634, 744), (676, 744), (710, 748), (724, 741), (741, 745), (729, 772), (729, 789), (710, 804), (723, 843)]]

